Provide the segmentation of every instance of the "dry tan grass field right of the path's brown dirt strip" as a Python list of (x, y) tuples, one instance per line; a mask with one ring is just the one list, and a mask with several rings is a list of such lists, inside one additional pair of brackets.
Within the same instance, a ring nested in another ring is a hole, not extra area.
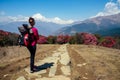
[(87, 64), (86, 70), (93, 73), (95, 80), (120, 80), (120, 50), (92, 45), (71, 45), (70, 47), (75, 51), (71, 57), (77, 58), (81, 63), (80, 57), (73, 57), (81, 56)]

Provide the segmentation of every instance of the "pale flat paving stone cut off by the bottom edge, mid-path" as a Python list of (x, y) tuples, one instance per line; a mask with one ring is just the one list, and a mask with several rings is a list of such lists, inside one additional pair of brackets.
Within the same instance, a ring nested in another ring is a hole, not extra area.
[(63, 76), (63, 75), (59, 75), (59, 76), (54, 76), (52, 78), (37, 78), (35, 80), (71, 80), (69, 77)]

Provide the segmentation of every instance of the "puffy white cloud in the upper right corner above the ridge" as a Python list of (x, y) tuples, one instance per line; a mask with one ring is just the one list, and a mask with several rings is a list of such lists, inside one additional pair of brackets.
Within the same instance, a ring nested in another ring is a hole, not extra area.
[(107, 2), (104, 10), (97, 13), (97, 15), (93, 17), (113, 15), (117, 13), (120, 13), (120, 0), (117, 0), (116, 2)]

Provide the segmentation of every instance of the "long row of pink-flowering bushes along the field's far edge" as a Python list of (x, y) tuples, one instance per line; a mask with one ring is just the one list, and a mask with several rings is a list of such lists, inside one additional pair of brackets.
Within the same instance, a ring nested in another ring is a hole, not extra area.
[[(9, 46), (9, 45), (17, 45), (18, 34), (6, 32), (0, 30), (0, 46)], [(114, 47), (120, 49), (120, 36), (117, 38), (112, 37), (102, 37), (99, 34), (90, 34), (90, 33), (76, 33), (73, 36), (69, 35), (58, 35), (58, 36), (39, 36), (38, 44), (92, 44), (92, 45), (100, 45), (104, 47)]]

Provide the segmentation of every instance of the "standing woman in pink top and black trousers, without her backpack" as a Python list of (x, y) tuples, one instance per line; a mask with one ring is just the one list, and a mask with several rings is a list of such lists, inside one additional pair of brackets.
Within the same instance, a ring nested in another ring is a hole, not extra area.
[(35, 53), (36, 53), (36, 44), (37, 44), (37, 40), (39, 39), (39, 35), (38, 35), (38, 30), (37, 28), (34, 27), (35, 25), (35, 20), (34, 18), (30, 17), (29, 18), (29, 28), (30, 28), (30, 45), (27, 46), (29, 52), (30, 52), (30, 73), (35, 72), (37, 69), (34, 65), (34, 59), (35, 59)]

